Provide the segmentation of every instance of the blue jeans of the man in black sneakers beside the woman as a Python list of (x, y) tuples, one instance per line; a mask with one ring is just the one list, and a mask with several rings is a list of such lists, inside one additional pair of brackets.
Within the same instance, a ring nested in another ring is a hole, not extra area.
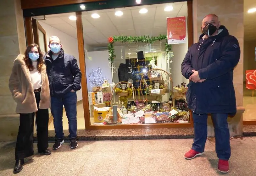
[(77, 120), (76, 120), (76, 92), (68, 92), (63, 97), (51, 97), (51, 112), (53, 115), (53, 125), (55, 129), (55, 138), (63, 139), (63, 105), (65, 107), (66, 115), (69, 121), (69, 139), (76, 138)]

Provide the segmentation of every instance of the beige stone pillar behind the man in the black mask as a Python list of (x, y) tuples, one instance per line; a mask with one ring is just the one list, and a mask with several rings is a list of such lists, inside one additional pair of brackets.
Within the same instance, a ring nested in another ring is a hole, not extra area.
[[(201, 32), (202, 19), (207, 14), (219, 16), (221, 25), (224, 25), (230, 35), (237, 37), (241, 48), (241, 57), (234, 70), (234, 87), (236, 91), (237, 114), (228, 118), (231, 136), (242, 135), (243, 106), (243, 0), (193, 0), (193, 29), (194, 42), (198, 42)], [(214, 136), (214, 128), (208, 118), (208, 136)]]

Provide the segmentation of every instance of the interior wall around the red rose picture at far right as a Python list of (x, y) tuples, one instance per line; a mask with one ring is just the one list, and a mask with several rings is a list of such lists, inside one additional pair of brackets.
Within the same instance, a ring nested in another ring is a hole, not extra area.
[(255, 47), (256, 47), (256, 40), (244, 41), (243, 81), (246, 81), (245, 79), (246, 70), (256, 69)]

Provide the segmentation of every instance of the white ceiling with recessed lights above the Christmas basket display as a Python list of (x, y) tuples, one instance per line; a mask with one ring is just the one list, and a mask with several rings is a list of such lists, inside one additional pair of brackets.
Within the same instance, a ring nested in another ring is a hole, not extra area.
[[(165, 12), (167, 5), (172, 5), (173, 10)], [(147, 8), (148, 12), (140, 14), (141, 8)], [(123, 16), (115, 16), (118, 10), (124, 13)], [(100, 18), (92, 18), (93, 13), (98, 13)], [(75, 13), (46, 15), (42, 22), (77, 38), (76, 21), (71, 21), (70, 15)], [(166, 35), (166, 18), (178, 16), (187, 16), (186, 2), (82, 12), (85, 43), (92, 47), (106, 47), (109, 36)]]

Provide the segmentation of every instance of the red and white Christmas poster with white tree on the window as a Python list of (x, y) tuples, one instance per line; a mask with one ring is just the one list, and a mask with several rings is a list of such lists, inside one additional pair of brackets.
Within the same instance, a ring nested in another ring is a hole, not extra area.
[(168, 45), (186, 43), (186, 17), (167, 18)]

